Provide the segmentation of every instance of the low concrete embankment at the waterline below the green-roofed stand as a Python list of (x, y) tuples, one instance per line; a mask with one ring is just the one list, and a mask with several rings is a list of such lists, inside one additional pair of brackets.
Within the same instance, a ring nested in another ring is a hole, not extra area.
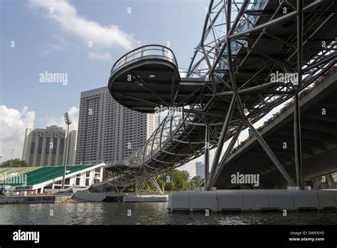
[(0, 204), (31, 204), (67, 202), (71, 195), (6, 196), (0, 197)]

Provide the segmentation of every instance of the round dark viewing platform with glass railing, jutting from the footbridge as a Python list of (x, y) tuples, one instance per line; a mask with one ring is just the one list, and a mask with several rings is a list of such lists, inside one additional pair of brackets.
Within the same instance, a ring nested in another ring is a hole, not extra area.
[[(136, 48), (114, 63), (109, 91), (119, 103), (144, 113), (171, 101), (181, 78), (170, 48), (147, 45)], [(173, 99), (172, 99), (173, 100)]]

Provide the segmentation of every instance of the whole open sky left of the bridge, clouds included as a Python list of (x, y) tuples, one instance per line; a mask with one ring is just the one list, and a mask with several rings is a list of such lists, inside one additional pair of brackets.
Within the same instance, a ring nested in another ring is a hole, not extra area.
[[(179, 67), (188, 68), (208, 4), (1, 0), (0, 162), (11, 158), (11, 149), (21, 158), (26, 127), (63, 125), (67, 110), (76, 119), (80, 92), (107, 86), (113, 63), (132, 48), (169, 41)], [(45, 71), (67, 73), (68, 84), (40, 83)]]

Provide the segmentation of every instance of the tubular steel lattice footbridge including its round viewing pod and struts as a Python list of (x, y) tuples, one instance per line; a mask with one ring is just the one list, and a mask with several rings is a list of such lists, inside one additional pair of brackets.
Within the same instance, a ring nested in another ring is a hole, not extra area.
[[(250, 128), (288, 185), (301, 187), (299, 93), (336, 64), (334, 1), (210, 1), (200, 43), (188, 71), (178, 71), (169, 48), (144, 46), (112, 68), (109, 91), (122, 105), (153, 113), (173, 108), (159, 128), (126, 161), (112, 166), (117, 186), (141, 184), (216, 148), (205, 185), (214, 185), (240, 132)], [(332, 27), (332, 29), (331, 29)], [(326, 46), (321, 44), (326, 43)], [(272, 75), (297, 75), (272, 81)], [(157, 75), (157, 78), (155, 77)], [(185, 77), (182, 77), (185, 76)], [(128, 79), (131, 80), (129, 81)], [(294, 98), (296, 178), (253, 126)], [(228, 148), (221, 157), (225, 141)], [(123, 169), (121, 169), (123, 167)]]

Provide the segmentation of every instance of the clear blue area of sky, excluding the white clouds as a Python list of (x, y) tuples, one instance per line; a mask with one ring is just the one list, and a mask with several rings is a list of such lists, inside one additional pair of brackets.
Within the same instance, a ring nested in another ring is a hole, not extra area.
[[(35, 111), (36, 125), (43, 125), (40, 118), (78, 106), (81, 91), (107, 86), (112, 64), (129, 49), (97, 44), (95, 37), (89, 48), (90, 33), (87, 37), (73, 33), (50, 19), (49, 10), (36, 3), (1, 1), (1, 104), (15, 109), (26, 105)], [(87, 0), (68, 4), (79, 18), (99, 26), (116, 25), (132, 34), (137, 41), (133, 48), (169, 41), (179, 66), (186, 68), (200, 39), (208, 1)], [(68, 73), (68, 85), (40, 83), (39, 74), (45, 71)]]

